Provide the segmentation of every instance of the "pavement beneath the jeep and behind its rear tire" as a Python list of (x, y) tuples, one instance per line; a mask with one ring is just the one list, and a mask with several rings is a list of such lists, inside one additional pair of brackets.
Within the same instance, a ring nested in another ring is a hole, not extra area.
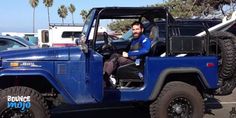
[[(231, 95), (215, 96), (206, 102), (206, 110), (204, 118), (235, 118), (236, 111), (232, 109), (236, 107), (236, 89)], [(110, 105), (112, 106), (112, 105)], [(89, 108), (90, 106), (75, 107), (74, 110), (66, 110), (64, 112), (54, 112), (53, 118), (150, 118), (149, 111), (145, 108), (130, 106), (106, 107), (103, 109)], [(65, 108), (66, 109), (66, 108)]]

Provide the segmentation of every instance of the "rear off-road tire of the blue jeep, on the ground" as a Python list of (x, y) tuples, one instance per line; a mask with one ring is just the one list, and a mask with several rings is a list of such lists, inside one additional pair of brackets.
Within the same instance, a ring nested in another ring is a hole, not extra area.
[[(178, 100), (179, 102), (182, 101), (183, 103), (177, 102), (176, 104), (172, 104), (173, 102)], [(187, 104), (184, 104), (184, 101), (186, 101)], [(178, 104), (181, 104), (180, 108), (182, 108), (182, 106), (185, 106), (185, 110), (189, 108), (189, 110), (191, 111), (186, 116), (187, 118), (203, 117), (204, 103), (202, 96), (200, 95), (196, 87), (178, 81), (167, 83), (164, 86), (157, 99), (150, 104), (150, 116), (151, 118), (172, 118), (175, 116), (176, 118), (182, 118), (181, 116), (179, 116), (179, 114), (176, 115), (175, 113), (177, 112), (173, 112), (173, 109), (171, 109), (174, 107), (174, 105), (178, 106)], [(189, 107), (186, 107), (186, 105), (189, 105)], [(182, 110), (184, 110), (184, 107), (182, 108)]]

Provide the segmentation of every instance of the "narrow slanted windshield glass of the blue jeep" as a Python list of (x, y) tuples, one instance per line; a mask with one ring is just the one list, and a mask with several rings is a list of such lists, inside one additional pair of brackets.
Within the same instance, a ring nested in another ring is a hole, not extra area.
[(88, 15), (85, 23), (84, 23), (84, 27), (83, 27), (83, 31), (82, 31), (82, 35), (85, 35), (85, 37), (88, 37), (87, 35), (89, 34), (89, 30), (88, 29), (90, 27), (90, 25), (93, 22), (93, 16), (94, 16), (95, 10), (91, 11), (90, 14)]

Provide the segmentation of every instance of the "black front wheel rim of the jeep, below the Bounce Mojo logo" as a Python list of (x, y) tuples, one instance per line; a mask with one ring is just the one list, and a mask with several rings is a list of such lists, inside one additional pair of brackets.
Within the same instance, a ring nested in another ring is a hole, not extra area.
[(21, 111), (20, 109), (5, 109), (1, 112), (1, 118), (34, 118), (30, 110)]

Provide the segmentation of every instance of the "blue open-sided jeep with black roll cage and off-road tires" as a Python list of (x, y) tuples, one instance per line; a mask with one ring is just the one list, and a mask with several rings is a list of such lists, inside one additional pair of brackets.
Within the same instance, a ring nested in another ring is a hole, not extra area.
[[(99, 21), (122, 18), (164, 20), (166, 55), (160, 57), (158, 39), (153, 37), (143, 63), (119, 67), (112, 77), (115, 87), (105, 89), (104, 57), (117, 51), (106, 38), (97, 49)], [(203, 117), (203, 99), (218, 88), (218, 58), (209, 51), (208, 37), (180, 36), (175, 29), (183, 26), (174, 21), (162, 7), (93, 8), (77, 47), (1, 52), (1, 117), (47, 118), (49, 110), (61, 104), (117, 102), (147, 104), (151, 118)], [(90, 33), (94, 33), (93, 40), (89, 40)], [(182, 53), (187, 56), (176, 57)]]

